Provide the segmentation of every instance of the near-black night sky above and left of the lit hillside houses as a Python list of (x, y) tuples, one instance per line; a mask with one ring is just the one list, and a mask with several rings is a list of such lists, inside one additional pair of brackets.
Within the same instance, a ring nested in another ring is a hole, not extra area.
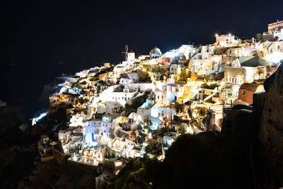
[[(1, 3), (0, 99), (38, 96), (63, 71), (103, 60), (117, 64), (125, 44), (138, 55), (214, 34), (254, 36), (282, 20), (282, 0), (270, 1), (6, 1)], [(2, 90), (1, 90), (2, 91)]]

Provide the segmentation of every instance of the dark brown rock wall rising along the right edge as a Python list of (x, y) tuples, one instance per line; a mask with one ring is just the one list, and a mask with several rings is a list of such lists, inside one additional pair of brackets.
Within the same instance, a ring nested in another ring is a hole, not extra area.
[(266, 101), (260, 121), (260, 142), (272, 177), (283, 185), (283, 64), (264, 86)]

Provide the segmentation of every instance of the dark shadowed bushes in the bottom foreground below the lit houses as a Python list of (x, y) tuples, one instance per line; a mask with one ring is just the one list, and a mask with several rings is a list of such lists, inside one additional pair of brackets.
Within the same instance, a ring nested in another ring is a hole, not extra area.
[(132, 160), (107, 188), (249, 188), (249, 163), (249, 147), (238, 139), (183, 134), (163, 162)]

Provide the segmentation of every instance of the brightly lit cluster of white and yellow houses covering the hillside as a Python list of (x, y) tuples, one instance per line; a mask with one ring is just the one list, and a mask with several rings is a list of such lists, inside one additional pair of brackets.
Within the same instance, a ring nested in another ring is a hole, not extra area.
[(58, 134), (62, 151), (94, 166), (148, 154), (163, 159), (180, 134), (221, 131), (227, 108), (251, 105), (283, 59), (280, 24), (260, 39), (216, 35), (214, 44), (165, 53), (154, 47), (138, 58), (126, 52), (120, 64), (64, 76), (50, 96), (74, 107), (68, 130)]

